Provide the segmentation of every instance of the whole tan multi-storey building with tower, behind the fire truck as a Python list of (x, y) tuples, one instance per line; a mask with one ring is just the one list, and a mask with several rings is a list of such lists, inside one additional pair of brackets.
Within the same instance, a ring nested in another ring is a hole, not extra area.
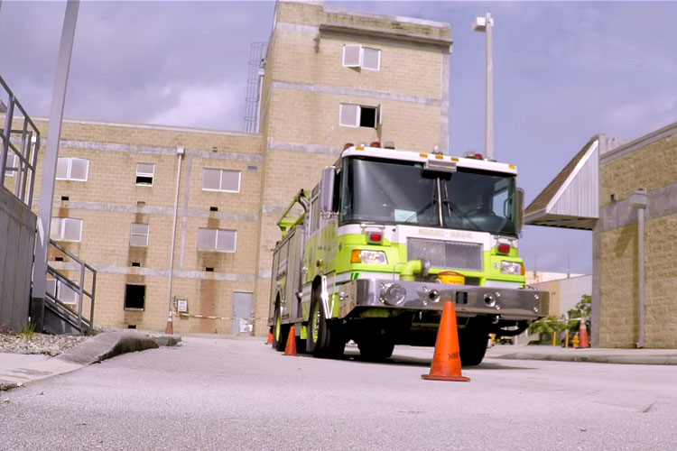
[(176, 332), (264, 335), (276, 222), (343, 144), (447, 151), (450, 45), (446, 23), (278, 2), (258, 133), (65, 120), (51, 238), (97, 270), (95, 324), (163, 329), (169, 304)]

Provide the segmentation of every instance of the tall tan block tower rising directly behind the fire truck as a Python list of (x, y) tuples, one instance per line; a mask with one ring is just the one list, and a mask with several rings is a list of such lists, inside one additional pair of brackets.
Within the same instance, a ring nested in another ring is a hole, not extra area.
[(277, 2), (261, 97), (256, 318), (268, 313), (276, 222), (343, 143), (447, 152), (450, 47), (447, 23)]

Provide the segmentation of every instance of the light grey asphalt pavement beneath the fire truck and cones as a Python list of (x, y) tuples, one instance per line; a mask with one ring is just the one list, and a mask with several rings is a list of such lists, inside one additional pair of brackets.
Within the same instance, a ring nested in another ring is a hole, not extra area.
[(469, 382), (435, 382), (431, 355), (289, 357), (263, 337), (185, 335), (3, 392), (0, 451), (674, 449), (671, 365), (489, 357), (463, 368)]

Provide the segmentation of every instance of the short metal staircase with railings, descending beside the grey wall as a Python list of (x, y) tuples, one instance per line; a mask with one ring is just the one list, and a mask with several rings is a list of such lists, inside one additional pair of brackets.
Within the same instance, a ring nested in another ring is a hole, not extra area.
[(70, 259), (62, 264), (62, 271), (65, 268), (69, 272), (78, 272), (79, 280), (71, 281), (48, 263), (47, 280), (50, 283), (45, 292), (42, 330), (51, 334), (90, 335), (94, 332), (97, 271), (52, 240), (50, 248)]

